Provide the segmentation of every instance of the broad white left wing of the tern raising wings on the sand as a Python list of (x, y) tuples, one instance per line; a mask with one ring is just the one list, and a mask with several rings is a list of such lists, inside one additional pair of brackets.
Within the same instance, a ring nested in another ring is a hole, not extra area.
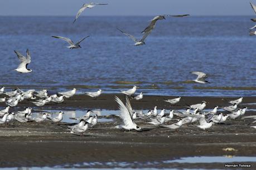
[(123, 102), (115, 96), (115, 101), (117, 101), (120, 110), (120, 118), (123, 120), (125, 126), (131, 126), (133, 123), (131, 114), (129, 113), (127, 107), (124, 106)]

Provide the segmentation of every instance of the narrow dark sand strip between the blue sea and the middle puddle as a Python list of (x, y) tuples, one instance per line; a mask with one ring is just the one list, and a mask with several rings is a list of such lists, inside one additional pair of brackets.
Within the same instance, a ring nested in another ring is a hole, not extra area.
[[(124, 101), (124, 94), (102, 94), (98, 98), (94, 99), (85, 94), (76, 94), (71, 98), (65, 98), (62, 103), (48, 103), (45, 106), (37, 107), (35, 104), (30, 101), (23, 101), (18, 103), (18, 106), (15, 108), (24, 108), (24, 107), (32, 107), (32, 108), (40, 108), (40, 109), (108, 109), (108, 110), (118, 110), (118, 104), (114, 101), (114, 96), (119, 97)], [(1, 95), (0, 97), (4, 97)], [(231, 104), (227, 101), (237, 99), (239, 97), (191, 97), (191, 96), (183, 96), (181, 97), (181, 101), (177, 103), (176, 106), (170, 106), (167, 102), (164, 102), (166, 99), (176, 98), (177, 96), (147, 96), (144, 95), (143, 99), (140, 101), (136, 101), (131, 99), (131, 104), (133, 109), (153, 109), (154, 106), (157, 106), (158, 109), (185, 109), (190, 104), (201, 103), (202, 101), (206, 101), (205, 109), (213, 109), (214, 106), (224, 107), (230, 106)], [(247, 103), (255, 103), (248, 104)], [(250, 109), (256, 109), (256, 97), (244, 97), (243, 105), (247, 106)], [(5, 103), (0, 103), (0, 107), (5, 107)]]

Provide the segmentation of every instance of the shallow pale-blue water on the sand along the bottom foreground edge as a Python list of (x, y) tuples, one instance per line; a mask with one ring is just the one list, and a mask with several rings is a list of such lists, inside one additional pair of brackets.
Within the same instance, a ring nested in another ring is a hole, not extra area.
[[(81, 164), (74, 164), (74, 165), (64, 165), (64, 166), (56, 166), (56, 167), (31, 167), (31, 168), (0, 168), (6, 170), (37, 170), (37, 169), (79, 169), (79, 168), (86, 168), (86, 169), (110, 169), (115, 167), (114, 169), (122, 169), (122, 170), (130, 170), (130, 169), (177, 169), (177, 168), (165, 168), (166, 166), (172, 166), (172, 163), (178, 163), (178, 167), (193, 169), (190, 168), (190, 164), (199, 164), (199, 163), (206, 163), (207, 169), (212, 167), (215, 169), (215, 163), (240, 163), (240, 164), (250, 164), (255, 162), (256, 157), (241, 157), (241, 156), (202, 156), (202, 157), (181, 157), (169, 161), (154, 161), (154, 162), (84, 162)], [(224, 164), (223, 164), (224, 165)], [(162, 166), (162, 168), (161, 168)], [(95, 168), (98, 167), (98, 168)], [(151, 167), (151, 168), (149, 168)], [(152, 168), (156, 167), (156, 168)], [(177, 167), (177, 164), (176, 164)], [(224, 166), (223, 166), (224, 167)], [(200, 168), (204, 169), (204, 168)]]

